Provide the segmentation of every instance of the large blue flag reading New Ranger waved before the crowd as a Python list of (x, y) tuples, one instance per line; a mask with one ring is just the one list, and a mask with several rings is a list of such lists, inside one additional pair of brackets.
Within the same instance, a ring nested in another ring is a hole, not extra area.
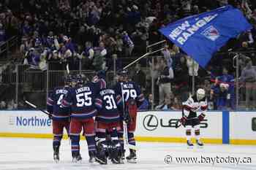
[(159, 31), (205, 67), (213, 53), (252, 26), (230, 5), (170, 23)]

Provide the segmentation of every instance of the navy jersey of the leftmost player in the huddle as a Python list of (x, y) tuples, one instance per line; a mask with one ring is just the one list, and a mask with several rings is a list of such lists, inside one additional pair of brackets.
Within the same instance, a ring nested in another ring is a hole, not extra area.
[(53, 120), (69, 120), (70, 108), (62, 107), (62, 98), (67, 95), (69, 87), (54, 88), (47, 100), (47, 110), (52, 114)]

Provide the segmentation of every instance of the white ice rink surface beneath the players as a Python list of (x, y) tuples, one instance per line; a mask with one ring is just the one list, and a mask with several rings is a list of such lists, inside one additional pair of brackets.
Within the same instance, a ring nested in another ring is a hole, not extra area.
[[(88, 152), (85, 141), (80, 142), (82, 163), (71, 162), (68, 140), (61, 143), (60, 163), (53, 163), (51, 139), (16, 139), (0, 138), (1, 170), (249, 170), (256, 169), (256, 147), (222, 144), (206, 144), (203, 148), (188, 149), (185, 144), (138, 142), (138, 163), (99, 165), (88, 163)], [(165, 163), (170, 155), (172, 163)], [(245, 158), (252, 163), (177, 163), (176, 158)], [(110, 161), (109, 161), (110, 162)]]

